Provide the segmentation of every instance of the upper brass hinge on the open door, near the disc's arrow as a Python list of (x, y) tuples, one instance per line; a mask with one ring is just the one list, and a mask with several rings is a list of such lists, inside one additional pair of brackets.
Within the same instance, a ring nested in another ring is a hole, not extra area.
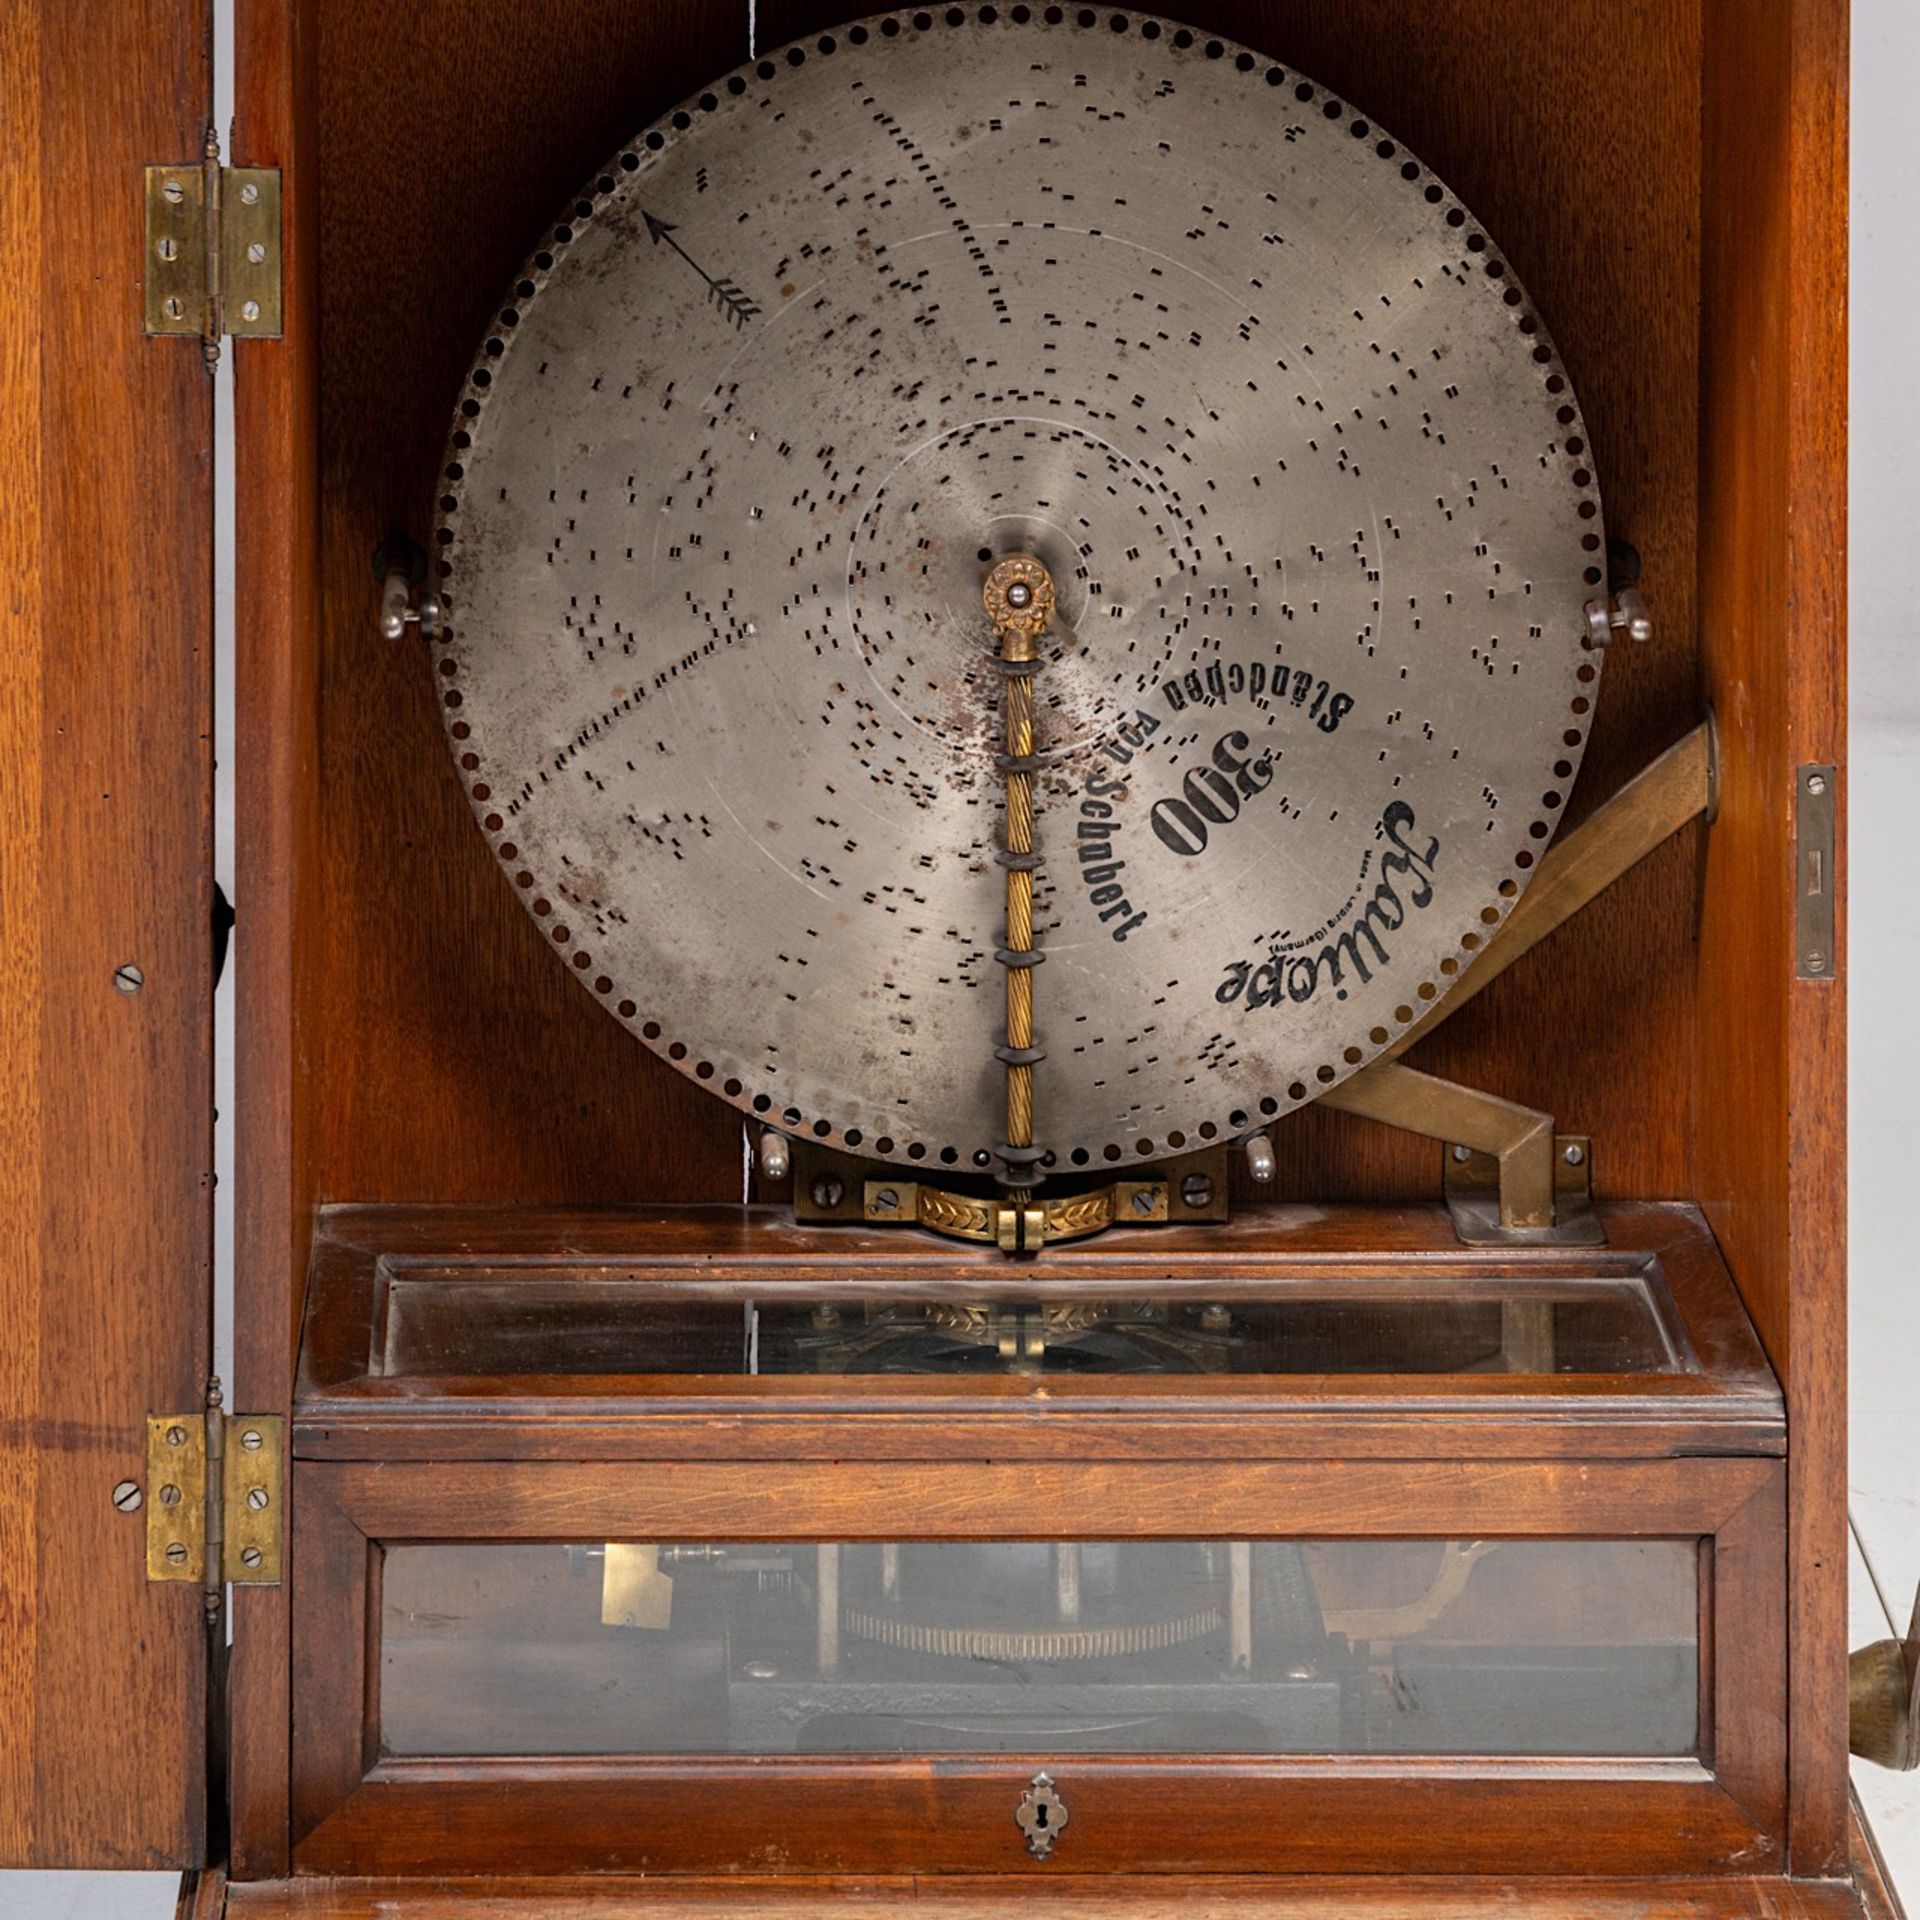
[(180, 167), (146, 169), (146, 330), (280, 338), (280, 169), (223, 167), (219, 138)]

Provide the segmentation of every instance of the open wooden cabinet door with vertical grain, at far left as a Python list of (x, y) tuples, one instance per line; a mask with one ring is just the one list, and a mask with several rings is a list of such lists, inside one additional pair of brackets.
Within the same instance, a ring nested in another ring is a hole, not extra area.
[(0, 29), (6, 1866), (204, 1836), (200, 1590), (111, 1494), (211, 1346), (213, 390), (142, 336), (142, 167), (200, 157), (209, 88), (194, 0)]

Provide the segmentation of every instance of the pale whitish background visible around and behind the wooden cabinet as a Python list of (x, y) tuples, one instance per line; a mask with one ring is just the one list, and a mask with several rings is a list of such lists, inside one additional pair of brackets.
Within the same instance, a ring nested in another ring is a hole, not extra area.
[[(215, 0), (219, 119), (230, 115), (230, 10)], [(1177, 6), (1171, 8), (1179, 12)], [(860, 12), (849, 0), (849, 12)], [(1908, 1212), (1920, 1165), (1912, 1100), (1920, 1021), (1920, 874), (1908, 852), (1920, 818), (1920, 672), (1914, 666), (1914, 559), (1920, 553), (1920, 219), (1908, 138), (1920, 100), (1920, 4), (1853, 0), (1853, 532), (1851, 532), (1851, 1244), (1853, 1244), (1853, 1644), (1905, 1630), (1920, 1588), (1920, 1277)], [(1622, 102), (1622, 111), (1632, 104)], [(221, 392), (223, 420), (230, 388)], [(232, 660), (232, 493), (221, 499), (223, 687)], [(1657, 609), (1655, 609), (1657, 612)], [(230, 699), (217, 730), (221, 879), (232, 893)], [(242, 916), (246, 902), (240, 902)], [(244, 918), (242, 918), (244, 929)], [(244, 937), (236, 935), (236, 937)], [(232, 1110), (230, 973), (221, 989), (221, 1110)], [(230, 1144), (219, 1144), (232, 1192)], [(219, 1210), (219, 1265), (230, 1275), (230, 1210)], [(230, 1342), (230, 1284), (217, 1346)], [(230, 1377), (230, 1367), (221, 1367)], [(1920, 1899), (1920, 1774), (1857, 1768), (1860, 1797), (1908, 1903)], [(6, 1920), (169, 1920), (173, 1874), (0, 1874)]]

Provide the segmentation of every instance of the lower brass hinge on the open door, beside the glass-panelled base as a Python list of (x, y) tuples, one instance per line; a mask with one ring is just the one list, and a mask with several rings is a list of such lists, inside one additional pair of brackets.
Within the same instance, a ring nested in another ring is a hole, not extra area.
[(284, 1542), (284, 1423), (225, 1413), (221, 1386), (200, 1413), (146, 1423), (146, 1576), (192, 1580), (207, 1615), (223, 1586), (278, 1586)]

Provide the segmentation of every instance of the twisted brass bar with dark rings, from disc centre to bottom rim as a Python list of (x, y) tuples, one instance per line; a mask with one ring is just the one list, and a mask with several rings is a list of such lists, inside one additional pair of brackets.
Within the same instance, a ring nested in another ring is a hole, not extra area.
[(1033, 1068), (1044, 1058), (1033, 1043), (1033, 970), (1044, 954), (1033, 945), (1033, 676), (1041, 666), (1041, 636), (1054, 611), (1052, 574), (1023, 553), (1010, 555), (987, 574), (981, 589), (998, 653), (995, 664), (1006, 680), (1002, 745), (996, 766), (1006, 780), (1006, 843), (998, 854), (1006, 868), (1006, 1039), (996, 1048), (1006, 1066), (1006, 1140), (1000, 1144), (1000, 1185), (1023, 1190), (1041, 1181), (1041, 1148), (1033, 1144)]

